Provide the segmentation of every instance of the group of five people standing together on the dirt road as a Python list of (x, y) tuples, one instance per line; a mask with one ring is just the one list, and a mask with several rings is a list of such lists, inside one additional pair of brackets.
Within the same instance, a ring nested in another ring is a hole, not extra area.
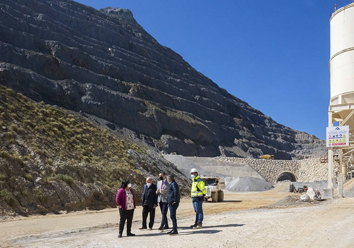
[[(204, 181), (201, 180), (196, 169), (193, 168), (190, 170), (190, 176), (193, 181), (191, 184), (191, 197), (195, 212), (195, 223), (190, 227), (193, 229), (199, 229), (203, 227), (202, 221), (204, 215), (202, 204), (204, 201), (204, 195), (206, 195), (206, 188)], [(153, 229), (155, 209), (159, 205), (161, 211), (161, 223), (158, 230), (163, 231), (170, 229), (167, 221), (167, 212), (170, 210), (172, 230), (167, 233), (169, 235), (176, 235), (178, 234), (176, 211), (180, 201), (179, 187), (173, 175), (166, 176), (166, 173), (160, 172), (159, 179), (157, 185), (153, 184), (151, 177), (147, 177), (146, 179), (146, 184), (144, 185), (144, 190), (141, 196), (143, 206), (142, 227), (139, 229)], [(136, 205), (129, 180), (125, 179), (122, 181), (122, 185), (118, 190), (115, 200), (120, 215), (118, 238), (122, 237), (125, 221), (127, 221), (127, 236), (135, 236), (135, 234), (131, 232), (131, 226)], [(150, 216), (149, 224), (147, 224), (148, 215)]]

